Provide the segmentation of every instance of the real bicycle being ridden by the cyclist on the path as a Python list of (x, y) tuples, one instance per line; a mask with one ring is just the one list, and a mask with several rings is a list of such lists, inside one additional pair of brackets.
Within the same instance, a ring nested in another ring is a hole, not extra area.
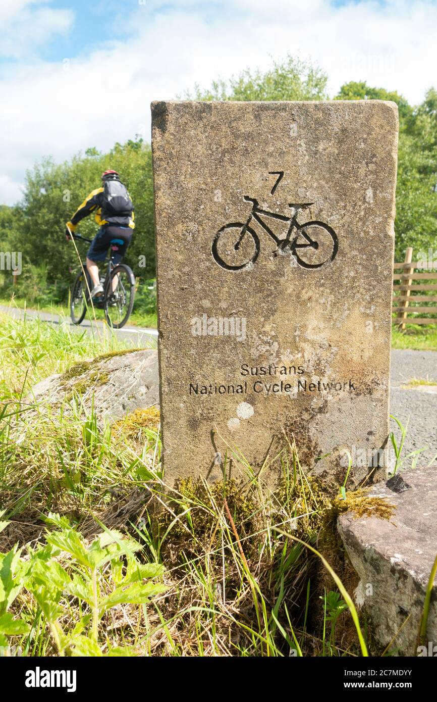
[[(91, 239), (73, 234), (74, 239), (91, 243)], [(112, 239), (112, 251), (117, 250), (117, 245), (123, 244), (121, 239)], [(114, 264), (112, 255), (109, 256), (107, 273), (100, 277), (103, 286), (103, 295), (93, 298), (93, 305), (98, 310), (105, 310), (105, 319), (112, 329), (121, 329), (130, 317), (135, 297), (135, 276), (125, 263)], [(73, 324), (81, 324), (90, 306), (90, 290), (93, 283), (90, 274), (83, 264), (76, 276), (70, 293), (70, 317)]]

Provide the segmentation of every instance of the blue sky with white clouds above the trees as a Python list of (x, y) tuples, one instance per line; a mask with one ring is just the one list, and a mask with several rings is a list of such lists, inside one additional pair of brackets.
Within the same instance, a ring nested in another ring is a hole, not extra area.
[(175, 98), (289, 52), (413, 103), (437, 84), (434, 0), (0, 0), (0, 201), (36, 159), (109, 149)]

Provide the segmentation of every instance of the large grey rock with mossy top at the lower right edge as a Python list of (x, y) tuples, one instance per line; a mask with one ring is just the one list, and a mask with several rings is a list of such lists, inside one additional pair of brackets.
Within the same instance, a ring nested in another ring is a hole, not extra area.
[[(354, 519), (353, 512), (346, 512), (337, 526), (361, 578), (356, 600), (370, 614), (377, 640), (386, 647), (394, 639), (391, 651), (416, 656), (426, 586), (437, 553), (437, 475), (436, 468), (430, 467), (405, 471), (400, 477), (404, 476), (405, 491), (393, 491), (382, 483), (370, 490), (370, 495), (396, 506), (390, 522), (377, 517)], [(426, 633), (426, 644), (433, 645), (437, 644), (436, 596), (434, 582)]]

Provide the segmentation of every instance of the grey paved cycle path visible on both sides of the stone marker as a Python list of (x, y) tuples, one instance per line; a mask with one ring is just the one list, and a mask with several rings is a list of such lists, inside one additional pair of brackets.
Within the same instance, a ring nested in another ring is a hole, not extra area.
[[(24, 310), (16, 307), (0, 305), (0, 312), (12, 314), (20, 318)], [(86, 319), (81, 326), (74, 326), (69, 319), (58, 314), (26, 310), (29, 317), (40, 317), (52, 324), (67, 324), (73, 331), (95, 333), (95, 322)], [(103, 322), (98, 322), (98, 329), (107, 329)], [(119, 338), (130, 340), (135, 346), (156, 347), (158, 332), (156, 329), (143, 329), (136, 326), (125, 326), (115, 329), (114, 333)], [(435, 380), (436, 385), (419, 385), (416, 388), (405, 388), (412, 378), (422, 380)], [(415, 451), (427, 446), (426, 451), (419, 459), (419, 465), (426, 465), (437, 453), (437, 352), (436, 351), (409, 351), (393, 350), (391, 352), (391, 389), (390, 413), (401, 420), (403, 425), (408, 423), (408, 433), (405, 439), (405, 451)], [(395, 435), (400, 434), (396, 423), (391, 420), (391, 428)], [(437, 463), (436, 463), (437, 470)]]

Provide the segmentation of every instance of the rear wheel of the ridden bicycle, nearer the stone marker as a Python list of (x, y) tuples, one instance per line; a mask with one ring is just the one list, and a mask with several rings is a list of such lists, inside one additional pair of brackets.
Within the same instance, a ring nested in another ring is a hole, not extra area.
[(121, 329), (130, 317), (135, 297), (135, 276), (128, 265), (120, 263), (111, 271), (105, 296), (105, 317), (112, 329)]

